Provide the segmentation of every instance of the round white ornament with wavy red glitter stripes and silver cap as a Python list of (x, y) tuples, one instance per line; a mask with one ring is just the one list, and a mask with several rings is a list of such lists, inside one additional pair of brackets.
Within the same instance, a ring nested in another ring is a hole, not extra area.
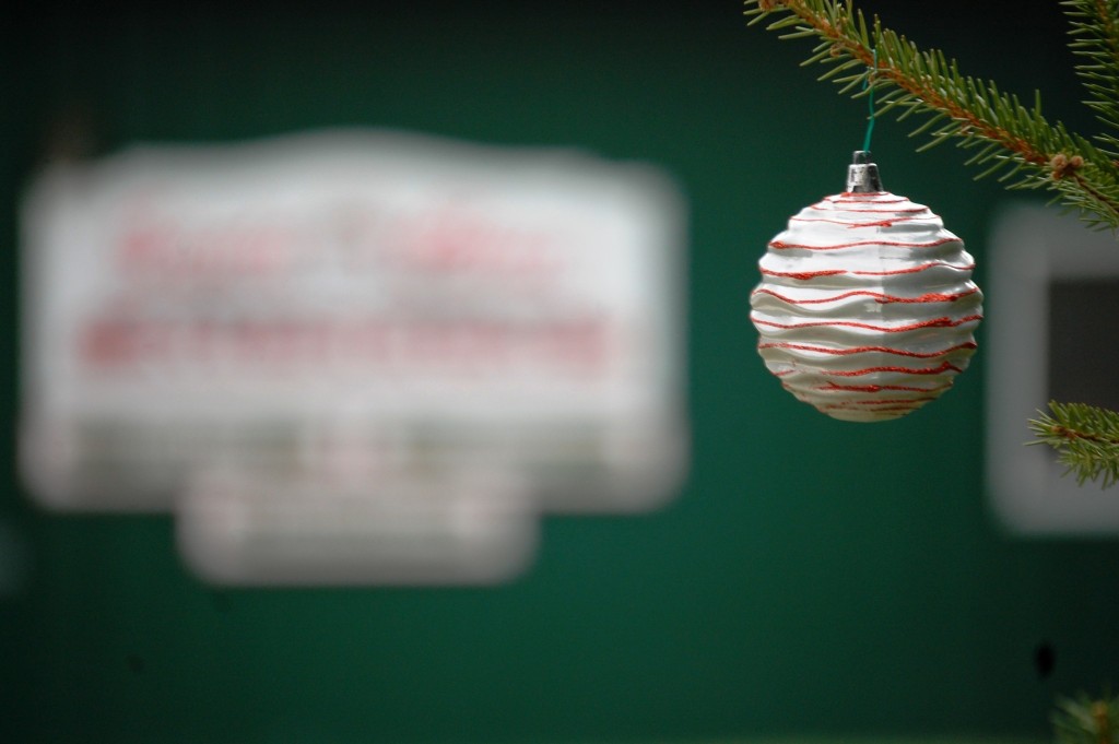
[(886, 421), (942, 395), (982, 319), (975, 262), (940, 217), (883, 190), (866, 150), (847, 190), (800, 210), (769, 243), (750, 314), (765, 366), (844, 421)]

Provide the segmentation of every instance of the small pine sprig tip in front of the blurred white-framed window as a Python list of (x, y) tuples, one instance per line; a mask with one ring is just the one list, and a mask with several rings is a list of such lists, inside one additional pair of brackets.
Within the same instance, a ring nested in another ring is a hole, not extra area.
[(1037, 440), (1049, 444), (1076, 482), (1101, 481), (1102, 488), (1119, 481), (1119, 413), (1083, 403), (1050, 402), (1050, 414), (1031, 420)]

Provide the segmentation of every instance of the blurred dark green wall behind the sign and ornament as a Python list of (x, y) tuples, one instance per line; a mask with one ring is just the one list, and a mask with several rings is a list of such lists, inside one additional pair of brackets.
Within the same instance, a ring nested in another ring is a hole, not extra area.
[[(1055, 1), (861, 4), (1094, 131)], [(865, 103), (798, 67), (809, 43), (722, 0), (36, 8), (0, 11), (0, 518), (16, 576), (0, 741), (1045, 738), (1055, 696), (1119, 681), (1119, 541), (1014, 537), (988, 506), (981, 330), (952, 392), (873, 425), (797, 403), (753, 349), (765, 242), (841, 190), (863, 141)], [(496, 588), (280, 591), (196, 581), (169, 517), (28, 500), (16, 207), (36, 164), (332, 125), (571, 145), (678, 180), (694, 462), (671, 505), (549, 517), (536, 565)], [(982, 262), (1006, 192), (950, 145), (915, 153), (906, 126), (875, 130), (886, 188)]]

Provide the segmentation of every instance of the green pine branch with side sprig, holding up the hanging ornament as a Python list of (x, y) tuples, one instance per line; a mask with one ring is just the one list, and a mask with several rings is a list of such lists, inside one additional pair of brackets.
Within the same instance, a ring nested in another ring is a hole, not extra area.
[[(1096, 109), (1109, 121), (1119, 121), (1119, 115), (1112, 116), (1119, 114), (1116, 91), (1103, 82), (1110, 73), (1106, 66), (1096, 69), (1103, 59), (1119, 65), (1119, 46), (1112, 47), (1119, 38), (1115, 3), (1069, 0), (1069, 6), (1082, 29), (1074, 30), (1076, 43), (1085, 45), (1079, 50), (1092, 60), (1082, 74), (1096, 85), (1090, 88)], [(899, 120), (923, 115), (912, 132), (929, 138), (920, 150), (953, 140), (974, 150), (967, 162), (984, 167), (977, 178), (998, 175), (1010, 189), (1047, 189), (1090, 226), (1119, 229), (1119, 168), (1112, 156), (1060, 122), (1050, 123), (1040, 95), (1026, 106), (993, 82), (962, 75), (956, 60), (940, 50), (919, 49), (876, 17), (868, 25), (853, 0), (746, 0), (745, 8), (751, 25), (768, 19), (767, 29), (781, 38), (816, 39), (803, 65), (827, 65), (820, 79), (835, 82), (840, 93), (858, 97), (873, 90), (880, 115), (891, 110)]]

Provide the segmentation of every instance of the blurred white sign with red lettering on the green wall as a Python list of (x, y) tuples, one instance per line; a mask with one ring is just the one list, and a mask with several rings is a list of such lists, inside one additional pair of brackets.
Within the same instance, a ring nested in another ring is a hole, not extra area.
[(44, 173), (23, 228), (36, 498), (175, 508), (206, 575), (492, 580), (526, 515), (679, 486), (686, 226), (649, 166), (368, 131), (137, 148)]

